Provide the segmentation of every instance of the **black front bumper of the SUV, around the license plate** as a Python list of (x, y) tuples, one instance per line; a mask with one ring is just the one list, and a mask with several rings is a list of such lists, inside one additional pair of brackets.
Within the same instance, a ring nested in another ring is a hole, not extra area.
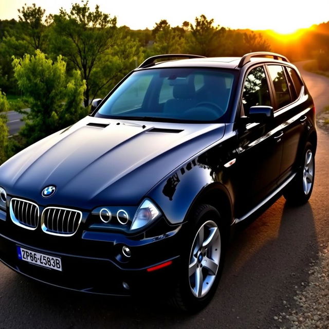
[[(86, 293), (115, 296), (131, 296), (141, 291), (143, 294), (148, 291), (167, 293), (174, 285), (174, 273), (179, 266), (181, 227), (163, 234), (161, 238), (143, 240), (118, 233), (88, 231), (74, 239), (44, 233), (33, 239), (31, 235), (38, 233), (6, 222), (0, 223), (0, 260), (34, 280)], [(117, 257), (122, 245), (131, 248), (131, 259)], [(60, 257), (62, 271), (20, 260), (17, 246)], [(148, 268), (168, 261), (171, 261), (169, 266), (148, 271)]]

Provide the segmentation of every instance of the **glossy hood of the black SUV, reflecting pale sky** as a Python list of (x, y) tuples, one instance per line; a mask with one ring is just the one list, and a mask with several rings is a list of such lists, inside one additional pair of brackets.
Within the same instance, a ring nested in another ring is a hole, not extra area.
[[(5, 162), (0, 186), (40, 205), (137, 205), (163, 177), (221, 139), (224, 130), (220, 123), (86, 117)], [(41, 192), (47, 186), (57, 190), (45, 199)]]

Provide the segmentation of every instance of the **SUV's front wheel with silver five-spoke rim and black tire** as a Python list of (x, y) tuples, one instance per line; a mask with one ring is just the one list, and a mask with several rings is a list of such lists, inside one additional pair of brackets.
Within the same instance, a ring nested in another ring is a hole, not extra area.
[(192, 225), (171, 304), (195, 313), (210, 302), (216, 291), (223, 269), (225, 240), (221, 216), (214, 207), (198, 206), (189, 221)]

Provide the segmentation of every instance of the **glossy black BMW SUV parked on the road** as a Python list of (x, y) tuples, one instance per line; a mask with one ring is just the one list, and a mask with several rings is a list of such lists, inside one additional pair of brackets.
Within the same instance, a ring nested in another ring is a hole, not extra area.
[(29, 278), (197, 310), (231, 228), (312, 193), (315, 107), (280, 54), (155, 56), (93, 105), (0, 167), (0, 259)]

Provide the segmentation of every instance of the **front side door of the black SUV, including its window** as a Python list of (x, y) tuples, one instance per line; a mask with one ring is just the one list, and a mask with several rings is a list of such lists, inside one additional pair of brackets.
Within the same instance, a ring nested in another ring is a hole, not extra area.
[[(251, 69), (245, 78), (242, 115), (254, 105), (273, 106), (269, 81), (263, 66)], [(273, 119), (268, 123), (248, 123), (238, 131), (236, 209), (238, 217), (257, 206), (277, 187), (282, 157), (282, 126)]]

